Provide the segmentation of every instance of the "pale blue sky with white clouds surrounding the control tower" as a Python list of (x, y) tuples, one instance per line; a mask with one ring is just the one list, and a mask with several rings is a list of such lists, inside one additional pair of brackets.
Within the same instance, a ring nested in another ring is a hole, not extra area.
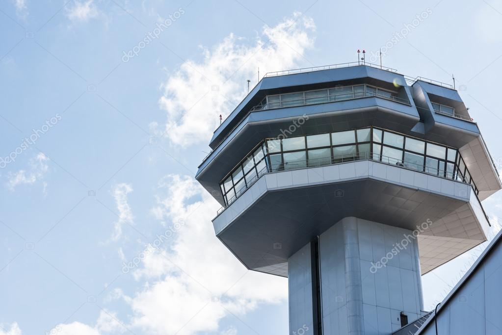
[[(385, 47), (401, 73), (455, 75), (500, 165), (500, 19), (499, 0), (3, 0), (0, 334), (287, 333), (287, 281), (220, 245), (193, 180), (219, 115), (258, 68)], [(500, 195), (484, 206), (498, 229)], [(427, 308), (480, 250), (423, 277)]]

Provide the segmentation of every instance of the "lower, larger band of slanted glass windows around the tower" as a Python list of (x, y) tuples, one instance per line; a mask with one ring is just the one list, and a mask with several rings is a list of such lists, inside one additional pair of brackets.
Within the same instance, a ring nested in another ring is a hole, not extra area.
[[(354, 87), (351, 86), (352, 92)], [(315, 94), (320, 96), (321, 91)], [(264, 173), (357, 159), (378, 160), (470, 183), (477, 192), (457, 149), (375, 127), (282, 139), (267, 138), (232, 169), (220, 182), (220, 188), (225, 202), (229, 204)]]

